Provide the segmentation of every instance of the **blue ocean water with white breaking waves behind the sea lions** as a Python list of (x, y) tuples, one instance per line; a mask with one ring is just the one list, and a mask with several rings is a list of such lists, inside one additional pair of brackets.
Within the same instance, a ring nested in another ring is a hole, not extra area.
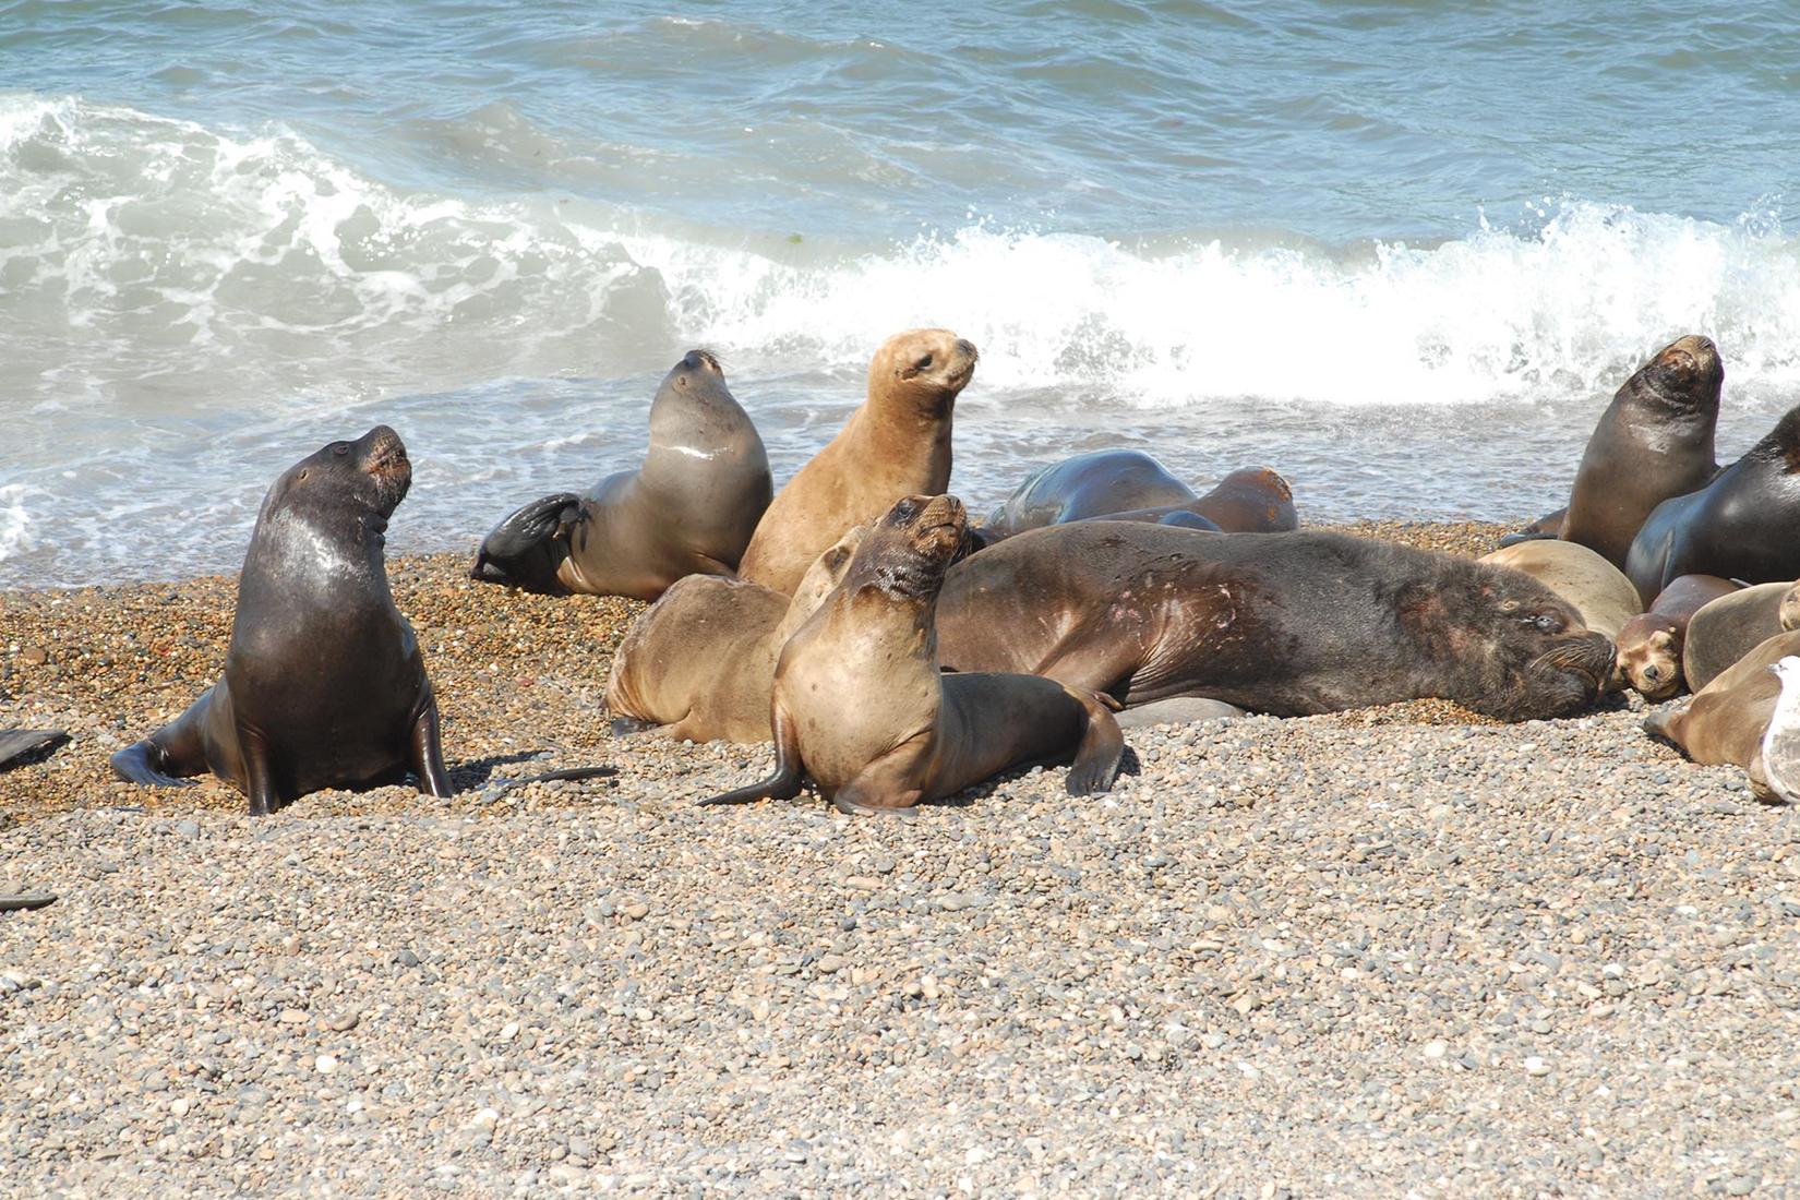
[(0, 0), (0, 587), (234, 569), (376, 421), (391, 549), (473, 549), (691, 345), (779, 484), (882, 338), (972, 338), (977, 511), (1145, 446), (1532, 515), (1690, 331), (1721, 453), (1800, 403), (1786, 0), (826, 7)]

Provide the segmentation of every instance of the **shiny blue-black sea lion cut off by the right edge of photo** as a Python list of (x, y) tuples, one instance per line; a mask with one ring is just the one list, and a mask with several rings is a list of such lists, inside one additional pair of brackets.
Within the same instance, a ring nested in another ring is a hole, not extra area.
[(1800, 576), (1800, 407), (1690, 495), (1663, 500), (1631, 543), (1625, 574), (1654, 596), (1678, 576), (1746, 583)]

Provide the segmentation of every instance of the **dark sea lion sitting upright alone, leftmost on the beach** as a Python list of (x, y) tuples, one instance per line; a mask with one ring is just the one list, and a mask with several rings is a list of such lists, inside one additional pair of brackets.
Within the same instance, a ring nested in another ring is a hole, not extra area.
[(225, 675), (187, 712), (112, 756), (130, 783), (211, 770), (265, 815), (320, 788), (400, 783), (450, 795), (437, 702), (382, 558), (412, 464), (385, 425), (288, 468), (263, 500), (238, 581)]

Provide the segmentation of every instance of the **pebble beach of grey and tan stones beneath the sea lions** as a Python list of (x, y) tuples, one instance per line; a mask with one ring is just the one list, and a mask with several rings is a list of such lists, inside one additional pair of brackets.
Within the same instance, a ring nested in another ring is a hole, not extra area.
[[(1359, 525), (1483, 552), (1496, 525)], [(234, 579), (0, 596), (0, 1191), (1793, 1195), (1800, 817), (1613, 698), (1129, 730), (896, 819), (695, 810), (639, 604), (394, 558), (459, 793), (252, 820), (106, 756)], [(585, 765), (617, 774), (506, 786)]]

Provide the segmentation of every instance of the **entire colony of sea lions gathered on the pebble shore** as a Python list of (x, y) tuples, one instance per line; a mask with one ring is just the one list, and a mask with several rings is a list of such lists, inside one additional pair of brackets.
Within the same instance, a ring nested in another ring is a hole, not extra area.
[[(1532, 720), (1687, 684), (1697, 694), (1645, 729), (1793, 799), (1800, 408), (1719, 470), (1710, 340), (1633, 374), (1568, 507), (1481, 561), (1298, 531), (1267, 468), (1199, 495), (1134, 450), (1048, 464), (970, 525), (945, 493), (976, 362), (947, 329), (889, 338), (868, 399), (776, 493), (718, 360), (689, 351), (657, 390), (644, 464), (509, 515), (472, 576), (652, 601), (617, 648), (612, 714), (776, 745), (769, 779), (707, 802), (785, 799), (810, 779), (844, 811), (895, 811), (1026, 763), (1073, 763), (1071, 795), (1105, 792), (1114, 712), (1143, 725), (1447, 698)], [(382, 556), (409, 482), (385, 426), (275, 482), (223, 676), (113, 756), (122, 779), (212, 772), (252, 813), (407, 775), (448, 792)]]

